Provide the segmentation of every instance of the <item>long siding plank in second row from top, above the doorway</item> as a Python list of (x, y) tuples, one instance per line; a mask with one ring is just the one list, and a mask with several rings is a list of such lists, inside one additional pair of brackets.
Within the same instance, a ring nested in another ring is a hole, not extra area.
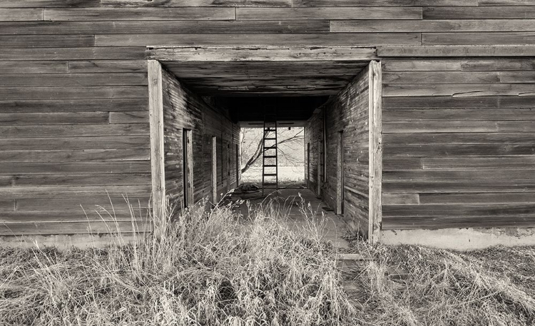
[(420, 7), (236, 8), (236, 20), (422, 19)]

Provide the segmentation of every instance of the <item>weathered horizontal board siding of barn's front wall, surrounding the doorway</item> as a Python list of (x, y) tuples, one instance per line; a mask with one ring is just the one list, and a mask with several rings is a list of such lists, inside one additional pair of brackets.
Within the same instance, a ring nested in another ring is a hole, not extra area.
[[(534, 208), (496, 205), (534, 203), (534, 12), (512, 0), (2, 0), (0, 234), (86, 233), (71, 209), (95, 218), (106, 190), (146, 207), (149, 45), (377, 46), (384, 228), (533, 226)], [(432, 58), (445, 56), (457, 58)], [(405, 204), (429, 210), (411, 220)], [(466, 213), (429, 213), (457, 204)]]

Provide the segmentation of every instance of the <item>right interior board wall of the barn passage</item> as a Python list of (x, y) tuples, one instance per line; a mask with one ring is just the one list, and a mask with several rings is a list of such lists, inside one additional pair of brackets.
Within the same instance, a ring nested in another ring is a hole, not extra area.
[(325, 118), (325, 153), (327, 173), (322, 185), (322, 199), (330, 208), (337, 207), (337, 158), (342, 133), (343, 153), (343, 217), (355, 230), (368, 233), (369, 198), (369, 126), (370, 80), (368, 67), (336, 96), (322, 106), (323, 114), (316, 114), (305, 125), (305, 143), (311, 147), (312, 190), (317, 187), (317, 143), (323, 143), (322, 119)]

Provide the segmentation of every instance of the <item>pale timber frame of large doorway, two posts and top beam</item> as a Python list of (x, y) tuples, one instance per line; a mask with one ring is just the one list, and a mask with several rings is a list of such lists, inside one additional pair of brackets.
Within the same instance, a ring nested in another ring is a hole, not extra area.
[[(370, 65), (368, 240), (370, 243), (379, 241), (382, 222), (382, 71), (376, 48), (352, 46), (161, 46), (148, 47), (146, 58), (148, 59), (152, 208), (155, 217), (161, 217), (163, 208), (165, 208), (162, 62), (195, 61), (199, 65), (203, 65), (207, 61), (368, 62)], [(324, 166), (324, 168), (326, 167)], [(318, 185), (318, 187), (320, 186)], [(156, 223), (154, 225), (156, 233), (158, 232)]]

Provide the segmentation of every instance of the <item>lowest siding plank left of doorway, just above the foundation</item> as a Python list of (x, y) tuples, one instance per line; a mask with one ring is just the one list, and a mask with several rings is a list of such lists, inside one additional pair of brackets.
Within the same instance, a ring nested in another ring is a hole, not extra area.
[[(72, 212), (68, 212), (72, 214)], [(48, 213), (54, 216), (54, 213)], [(67, 213), (66, 213), (67, 214)], [(84, 222), (42, 222), (42, 223), (4, 223), (0, 224), (0, 235), (51, 235), (51, 234), (93, 234), (106, 233), (143, 233), (151, 230), (151, 221), (139, 220), (132, 223), (131, 220), (118, 222), (94, 221)]]

